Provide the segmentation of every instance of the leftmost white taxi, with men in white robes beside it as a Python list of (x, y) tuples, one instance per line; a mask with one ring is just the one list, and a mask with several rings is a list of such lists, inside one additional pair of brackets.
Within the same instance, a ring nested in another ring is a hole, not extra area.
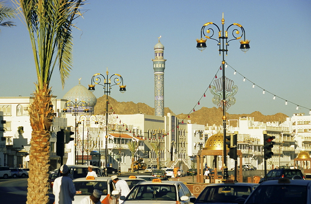
[(111, 177), (94, 177), (88, 176), (84, 178), (78, 178), (73, 180), (73, 185), (76, 189), (76, 195), (72, 203), (80, 204), (80, 201), (93, 194), (94, 189), (100, 190), (102, 196), (100, 198), (101, 203), (109, 204), (116, 202), (116, 197), (119, 191), (114, 190), (114, 184)]

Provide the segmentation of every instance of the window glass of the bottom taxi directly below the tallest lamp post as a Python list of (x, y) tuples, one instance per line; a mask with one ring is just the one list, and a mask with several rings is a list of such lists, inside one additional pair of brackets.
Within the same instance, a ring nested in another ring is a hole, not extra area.
[[(196, 203), (244, 203), (251, 191), (249, 186), (241, 185), (207, 186), (197, 198)], [(236, 201), (237, 199), (240, 200)]]

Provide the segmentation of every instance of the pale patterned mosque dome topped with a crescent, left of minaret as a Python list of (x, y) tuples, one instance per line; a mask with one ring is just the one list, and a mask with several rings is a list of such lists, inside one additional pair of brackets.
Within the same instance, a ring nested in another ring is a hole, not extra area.
[(91, 93), (85, 86), (81, 85), (80, 82), (77, 86), (70, 89), (63, 97), (68, 101), (77, 99), (77, 102), (85, 101), (88, 107), (94, 107), (97, 99), (93, 93)]

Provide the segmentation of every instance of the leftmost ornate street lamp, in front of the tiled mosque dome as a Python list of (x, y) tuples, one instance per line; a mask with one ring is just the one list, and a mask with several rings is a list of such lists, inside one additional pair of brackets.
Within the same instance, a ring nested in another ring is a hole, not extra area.
[(87, 108), (87, 103), (85, 101), (77, 102), (77, 98), (75, 101), (67, 101), (65, 103), (65, 108), (63, 109), (64, 113), (68, 113), (68, 109), (75, 116), (75, 164), (77, 164), (77, 115), (81, 112), (89, 112)]

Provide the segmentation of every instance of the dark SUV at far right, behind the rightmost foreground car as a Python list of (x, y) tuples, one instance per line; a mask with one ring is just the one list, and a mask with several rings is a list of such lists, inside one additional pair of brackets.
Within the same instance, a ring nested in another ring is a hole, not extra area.
[[(289, 179), (305, 179), (300, 169), (272, 169), (267, 173), (267, 180), (278, 180), (279, 178)], [(265, 178), (261, 178), (259, 183), (265, 181)]]

